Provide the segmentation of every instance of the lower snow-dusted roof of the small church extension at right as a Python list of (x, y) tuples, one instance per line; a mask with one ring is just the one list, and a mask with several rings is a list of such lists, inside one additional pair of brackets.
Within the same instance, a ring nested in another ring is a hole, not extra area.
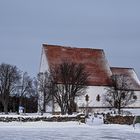
[(133, 68), (111, 67), (113, 74), (125, 74), (129, 78), (129, 87), (133, 90), (140, 90), (140, 81)]

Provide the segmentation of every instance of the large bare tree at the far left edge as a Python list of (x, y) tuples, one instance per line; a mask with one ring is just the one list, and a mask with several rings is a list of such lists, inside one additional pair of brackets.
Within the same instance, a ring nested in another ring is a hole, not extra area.
[(16, 66), (2, 63), (0, 65), (0, 101), (8, 114), (9, 96), (16, 88), (20, 79), (20, 72)]

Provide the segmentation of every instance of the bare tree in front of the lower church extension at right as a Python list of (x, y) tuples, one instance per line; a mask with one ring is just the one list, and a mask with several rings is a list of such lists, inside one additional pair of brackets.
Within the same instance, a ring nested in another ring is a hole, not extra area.
[(120, 114), (121, 108), (134, 103), (137, 100), (137, 96), (133, 89), (129, 89), (131, 83), (128, 76), (113, 75), (111, 79), (112, 87), (107, 88), (105, 101), (110, 106), (118, 109), (118, 114)]

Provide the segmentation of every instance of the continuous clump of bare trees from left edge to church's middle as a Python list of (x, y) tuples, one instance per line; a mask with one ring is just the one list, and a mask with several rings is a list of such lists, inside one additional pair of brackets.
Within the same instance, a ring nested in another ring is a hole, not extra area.
[(50, 68), (49, 72), (39, 73), (37, 78), (30, 78), (27, 72), (22, 73), (16, 66), (0, 65), (0, 103), (4, 112), (8, 113), (11, 97), (18, 98), (18, 106), (23, 106), (23, 100), (36, 97), (46, 111), (46, 105), (57, 103), (62, 114), (72, 114), (76, 111), (75, 98), (85, 93), (88, 73), (82, 64), (63, 62)]

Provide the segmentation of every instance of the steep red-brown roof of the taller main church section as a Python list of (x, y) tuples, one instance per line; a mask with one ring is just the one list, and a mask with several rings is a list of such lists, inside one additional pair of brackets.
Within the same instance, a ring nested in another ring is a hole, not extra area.
[(82, 63), (90, 74), (89, 85), (108, 86), (111, 83), (111, 70), (102, 49), (71, 48), (58, 45), (43, 45), (49, 67), (64, 60)]

